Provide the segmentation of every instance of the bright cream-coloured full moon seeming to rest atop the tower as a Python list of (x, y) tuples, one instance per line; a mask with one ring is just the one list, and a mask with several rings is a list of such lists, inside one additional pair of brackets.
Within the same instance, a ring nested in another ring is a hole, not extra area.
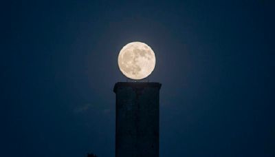
[(155, 68), (155, 53), (146, 43), (128, 43), (118, 54), (118, 67), (130, 79), (144, 79)]

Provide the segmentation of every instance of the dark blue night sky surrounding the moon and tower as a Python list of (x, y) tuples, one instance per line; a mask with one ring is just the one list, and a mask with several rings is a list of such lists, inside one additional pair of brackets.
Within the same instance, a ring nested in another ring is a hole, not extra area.
[(114, 156), (113, 86), (131, 41), (155, 52), (160, 157), (275, 156), (271, 1), (8, 5), (0, 156)]

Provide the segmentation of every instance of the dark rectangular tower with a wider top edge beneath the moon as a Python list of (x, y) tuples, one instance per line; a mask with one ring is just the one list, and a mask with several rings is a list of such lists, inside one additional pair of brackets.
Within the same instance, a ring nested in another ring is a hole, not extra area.
[(160, 87), (160, 83), (115, 84), (115, 157), (159, 156)]

